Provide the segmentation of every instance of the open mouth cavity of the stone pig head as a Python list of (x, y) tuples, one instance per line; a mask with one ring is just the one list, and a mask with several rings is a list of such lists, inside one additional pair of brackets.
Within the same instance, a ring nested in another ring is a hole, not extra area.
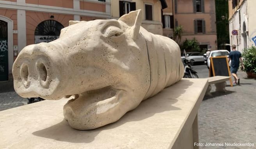
[[(75, 94), (73, 99), (64, 105), (64, 117), (69, 121), (69, 124), (72, 121), (92, 119), (92, 117), (104, 114), (118, 105), (124, 92), (123, 89), (107, 86), (97, 90), (89, 90), (82, 94)], [(66, 96), (66, 98), (68, 97)]]

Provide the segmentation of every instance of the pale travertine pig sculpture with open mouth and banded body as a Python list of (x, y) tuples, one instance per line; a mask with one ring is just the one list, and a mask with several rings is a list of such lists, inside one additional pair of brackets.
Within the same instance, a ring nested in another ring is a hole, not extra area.
[(13, 64), (24, 97), (70, 97), (64, 117), (75, 129), (116, 122), (184, 74), (173, 40), (140, 27), (142, 12), (119, 20), (70, 21), (60, 38), (26, 46)]

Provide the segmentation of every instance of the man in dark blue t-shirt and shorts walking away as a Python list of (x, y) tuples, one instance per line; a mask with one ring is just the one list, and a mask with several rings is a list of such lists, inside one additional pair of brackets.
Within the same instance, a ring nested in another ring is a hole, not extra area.
[(228, 62), (230, 60), (231, 60), (230, 71), (231, 71), (232, 76), (235, 79), (233, 84), (240, 85), (240, 79), (238, 78), (236, 73), (239, 68), (239, 63), (241, 62), (242, 69), (244, 69), (244, 63), (243, 63), (243, 59), (242, 59), (242, 54), (239, 51), (236, 51), (236, 46), (234, 44), (232, 45), (232, 51), (229, 53)]

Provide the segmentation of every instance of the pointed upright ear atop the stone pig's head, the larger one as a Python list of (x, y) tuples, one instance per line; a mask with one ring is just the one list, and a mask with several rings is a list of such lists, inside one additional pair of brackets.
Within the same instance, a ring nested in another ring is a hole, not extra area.
[(126, 23), (129, 27), (130, 35), (132, 36), (133, 39), (137, 38), (137, 35), (139, 34), (140, 31), (140, 25), (142, 23), (142, 12), (141, 10), (137, 11), (131, 11), (128, 14), (124, 14), (121, 16), (118, 21), (123, 21)]

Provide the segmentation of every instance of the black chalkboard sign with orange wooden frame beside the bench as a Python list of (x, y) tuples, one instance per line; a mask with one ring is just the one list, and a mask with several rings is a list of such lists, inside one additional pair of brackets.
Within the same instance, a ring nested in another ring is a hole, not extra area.
[[(211, 65), (209, 68), (209, 75), (211, 76), (231, 76), (228, 57), (210, 57)], [(233, 86), (232, 79), (230, 78), (230, 84)]]

